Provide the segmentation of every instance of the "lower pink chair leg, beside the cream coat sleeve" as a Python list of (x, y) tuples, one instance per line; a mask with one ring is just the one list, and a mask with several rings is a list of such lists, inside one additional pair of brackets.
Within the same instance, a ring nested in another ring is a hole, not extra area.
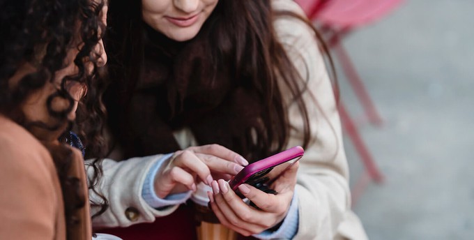
[(369, 150), (365, 146), (362, 137), (360, 137), (360, 134), (357, 128), (355, 127), (351, 116), (349, 116), (348, 112), (346, 112), (346, 108), (344, 107), (344, 104), (342, 102), (339, 103), (339, 115), (341, 117), (342, 126), (344, 130), (346, 130), (346, 133), (349, 135), (349, 137), (351, 137), (351, 141), (354, 144), (356, 151), (358, 151), (362, 163), (364, 163), (369, 176), (375, 182), (381, 183), (383, 181), (383, 176), (379, 168), (377, 167), (374, 159), (372, 158), (372, 155), (370, 154)]

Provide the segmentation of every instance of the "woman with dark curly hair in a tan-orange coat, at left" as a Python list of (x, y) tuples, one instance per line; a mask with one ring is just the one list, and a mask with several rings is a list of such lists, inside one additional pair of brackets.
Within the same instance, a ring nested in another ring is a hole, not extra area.
[(101, 146), (107, 7), (0, 1), (0, 239), (92, 237), (81, 151)]

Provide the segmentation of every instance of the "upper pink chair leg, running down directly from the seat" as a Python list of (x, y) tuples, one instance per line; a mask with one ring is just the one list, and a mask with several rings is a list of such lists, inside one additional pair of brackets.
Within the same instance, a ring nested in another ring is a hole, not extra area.
[(357, 71), (355, 70), (349, 55), (347, 54), (346, 50), (342, 46), (340, 41), (340, 36), (338, 33), (334, 33), (335, 35), (332, 38), (331, 45), (337, 54), (337, 58), (339, 59), (342, 69), (346, 74), (349, 83), (351, 84), (352, 88), (355, 91), (355, 95), (358, 96), (362, 106), (364, 107), (365, 114), (369, 121), (377, 126), (381, 125), (383, 122), (382, 118), (380, 117), (379, 112), (376, 110), (373, 101), (370, 99), (367, 90), (364, 87), (364, 83), (360, 79)]

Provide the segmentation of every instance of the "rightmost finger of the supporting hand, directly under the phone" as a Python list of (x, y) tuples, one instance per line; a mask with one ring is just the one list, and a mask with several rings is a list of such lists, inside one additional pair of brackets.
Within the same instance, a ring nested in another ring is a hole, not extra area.
[(277, 195), (264, 193), (247, 183), (238, 186), (238, 190), (262, 211), (276, 213), (278, 215), (286, 213), (291, 202), (291, 197), (293, 196), (293, 191), (289, 190), (280, 192)]

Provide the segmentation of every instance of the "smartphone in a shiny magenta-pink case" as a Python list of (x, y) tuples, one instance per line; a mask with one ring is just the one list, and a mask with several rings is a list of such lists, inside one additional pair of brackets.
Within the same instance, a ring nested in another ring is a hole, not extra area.
[(229, 185), (240, 197), (243, 197), (243, 195), (238, 191), (238, 186), (243, 183), (250, 184), (266, 193), (276, 194), (276, 192), (268, 188), (268, 186), (291, 167), (291, 165), (300, 160), (304, 153), (303, 147), (296, 146), (273, 156), (269, 156), (268, 158), (258, 160), (255, 163), (245, 166), (243, 170), (240, 170), (240, 172), (229, 181)]

